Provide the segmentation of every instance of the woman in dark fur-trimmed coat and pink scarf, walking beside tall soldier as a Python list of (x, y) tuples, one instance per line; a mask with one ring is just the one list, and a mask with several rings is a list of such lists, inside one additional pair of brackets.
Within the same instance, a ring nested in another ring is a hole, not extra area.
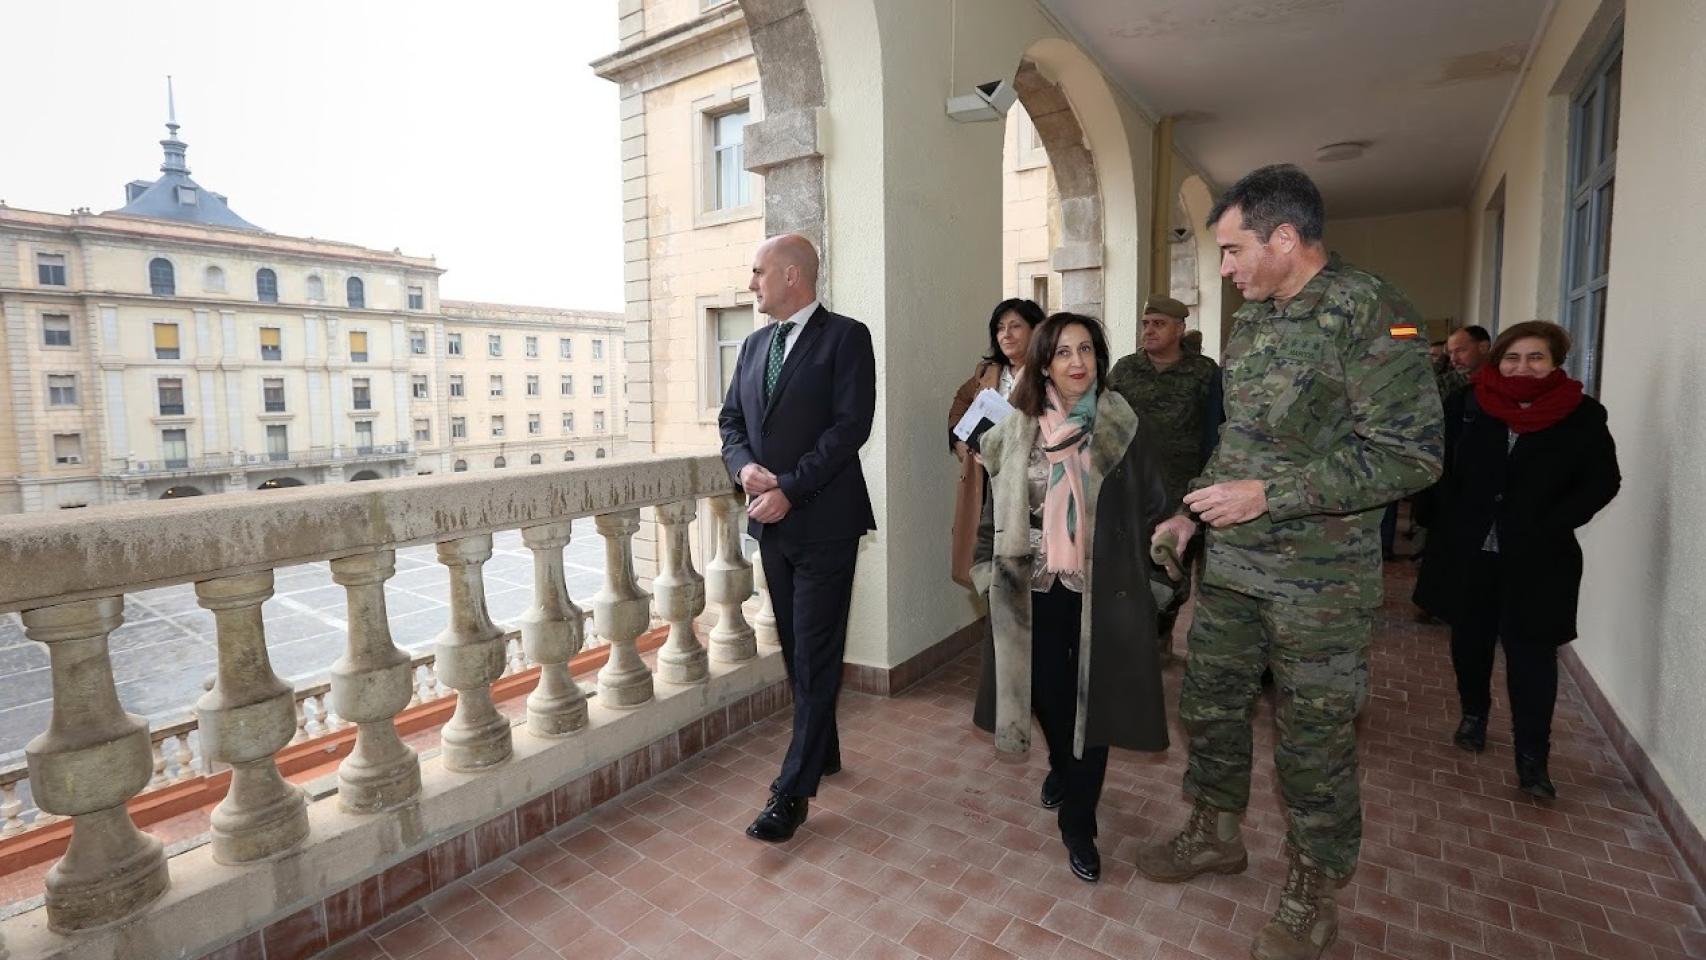
[(1167, 749), (1148, 559), (1167, 501), (1136, 413), (1102, 389), (1102, 326), (1054, 314), (1030, 348), (1015, 413), (981, 447), (991, 494), (972, 581), (989, 600), (995, 670), (978, 720), (998, 750), (1022, 754), (1036, 714), (1065, 788), (1068, 866), (1095, 882), (1107, 749)]

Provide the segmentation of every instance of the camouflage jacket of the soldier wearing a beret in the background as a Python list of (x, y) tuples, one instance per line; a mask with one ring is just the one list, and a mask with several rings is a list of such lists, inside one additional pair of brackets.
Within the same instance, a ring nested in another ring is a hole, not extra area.
[(1204, 443), (1204, 428), (1220, 425), (1220, 411), (1208, 409), (1208, 394), (1218, 375), (1220, 365), (1203, 355), (1187, 353), (1172, 367), (1157, 370), (1141, 350), (1121, 358), (1107, 375), (1109, 389), (1126, 397), (1138, 418), (1148, 423), (1174, 510), (1191, 488), (1191, 477), (1203, 472), (1208, 462), (1211, 445)]

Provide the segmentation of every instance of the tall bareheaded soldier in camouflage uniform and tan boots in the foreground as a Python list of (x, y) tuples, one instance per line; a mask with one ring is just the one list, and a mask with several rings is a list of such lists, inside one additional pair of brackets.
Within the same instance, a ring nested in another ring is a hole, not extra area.
[[(1210, 215), (1220, 275), (1244, 292), (1223, 351), (1227, 423), (1186, 506), (1211, 530), (1179, 716), (1191, 742), (1186, 829), (1138, 870), (1182, 882), (1247, 866), (1250, 713), (1278, 685), (1274, 769), (1291, 868), (1257, 960), (1315, 960), (1338, 936), (1336, 887), (1356, 868), (1356, 714), (1380, 604), (1380, 506), (1440, 476), (1440, 397), (1392, 285), (1329, 256), (1322, 203), (1297, 167), (1262, 167)], [(1155, 537), (1187, 541), (1191, 515)]]

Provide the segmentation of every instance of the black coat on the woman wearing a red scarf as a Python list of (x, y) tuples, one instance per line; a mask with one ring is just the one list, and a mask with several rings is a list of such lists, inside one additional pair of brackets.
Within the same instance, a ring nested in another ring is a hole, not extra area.
[(1447, 401), (1445, 476), (1414, 599), (1457, 624), (1462, 576), (1496, 522), (1503, 592), (1520, 604), (1522, 636), (1508, 639), (1570, 643), (1581, 588), (1576, 527), (1622, 483), (1605, 408), (1583, 397), (1564, 419), (1506, 443), (1505, 421), (1483, 411), (1472, 389)]

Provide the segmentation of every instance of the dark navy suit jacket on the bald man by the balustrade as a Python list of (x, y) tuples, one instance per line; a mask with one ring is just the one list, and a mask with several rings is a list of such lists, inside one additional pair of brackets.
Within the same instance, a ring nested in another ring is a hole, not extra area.
[[(776, 474), (790, 503), (788, 515), (775, 523), (785, 541), (863, 537), (877, 529), (858, 462), (877, 413), (870, 329), (817, 307), (788, 351), (766, 404), (764, 367), (780, 327), (756, 329), (740, 344), (735, 379), (717, 418), (723, 462), (737, 484), (747, 464)], [(747, 532), (756, 539), (763, 527), (751, 522)]]

